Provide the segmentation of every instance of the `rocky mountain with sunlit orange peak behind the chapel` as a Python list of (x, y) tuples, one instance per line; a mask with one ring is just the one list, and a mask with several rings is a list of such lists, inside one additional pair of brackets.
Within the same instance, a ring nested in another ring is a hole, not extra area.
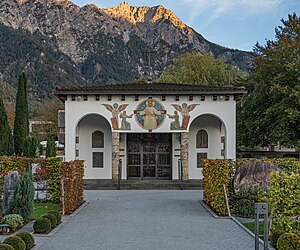
[(126, 2), (101, 9), (68, 0), (1, 0), (0, 46), (0, 80), (15, 86), (25, 71), (37, 98), (51, 96), (55, 86), (126, 83), (148, 71), (158, 76), (187, 52), (209, 53), (243, 71), (252, 58), (207, 41), (163, 6)]

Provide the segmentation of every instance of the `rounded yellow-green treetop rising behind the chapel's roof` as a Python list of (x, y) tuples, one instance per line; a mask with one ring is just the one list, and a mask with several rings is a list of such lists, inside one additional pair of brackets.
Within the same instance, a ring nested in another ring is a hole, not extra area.
[(185, 54), (165, 70), (158, 82), (190, 83), (199, 85), (234, 85), (244, 76), (237, 68), (201, 53)]

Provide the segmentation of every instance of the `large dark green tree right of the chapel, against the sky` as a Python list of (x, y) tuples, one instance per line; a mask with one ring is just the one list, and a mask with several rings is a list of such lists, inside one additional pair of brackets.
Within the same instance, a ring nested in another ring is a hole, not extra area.
[(300, 18), (276, 28), (274, 41), (255, 45), (248, 95), (238, 108), (244, 146), (300, 146)]

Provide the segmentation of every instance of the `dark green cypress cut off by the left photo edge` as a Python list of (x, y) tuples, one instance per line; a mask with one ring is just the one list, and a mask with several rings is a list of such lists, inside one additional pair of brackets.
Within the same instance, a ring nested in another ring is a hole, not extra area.
[(9, 126), (7, 113), (3, 104), (3, 100), (0, 97), (0, 155), (13, 155), (14, 154), (14, 142)]

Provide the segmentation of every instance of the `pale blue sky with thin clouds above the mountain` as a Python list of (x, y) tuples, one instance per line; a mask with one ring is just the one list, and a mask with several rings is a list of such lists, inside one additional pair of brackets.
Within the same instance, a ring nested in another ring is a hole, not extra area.
[[(121, 0), (70, 0), (83, 6), (118, 6)], [(300, 0), (127, 0), (133, 6), (163, 5), (207, 40), (222, 46), (252, 51), (256, 42), (275, 39), (281, 19), (296, 12)]]

